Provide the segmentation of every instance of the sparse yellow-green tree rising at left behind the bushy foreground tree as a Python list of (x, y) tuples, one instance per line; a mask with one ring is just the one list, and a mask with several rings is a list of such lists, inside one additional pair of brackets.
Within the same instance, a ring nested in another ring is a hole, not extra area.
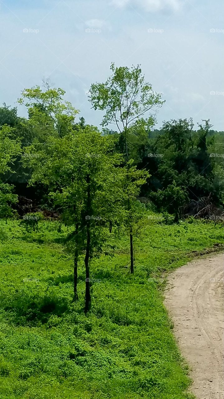
[(43, 86), (43, 88), (36, 86), (25, 89), (22, 92), (22, 97), (18, 100), (19, 104), (28, 107), (29, 119), (26, 120), (26, 124), (28, 131), (31, 132), (29, 136), (24, 127), (24, 136), (29, 137), (29, 139), (23, 140), (24, 154), (22, 154), (22, 162), (19, 160), (23, 168), (18, 170), (23, 172), (25, 169), (26, 175), (24, 177), (26, 179), (23, 182), (20, 181), (18, 192), (22, 187), (28, 198), (31, 196), (40, 203), (47, 203), (47, 206), (51, 207), (52, 204), (49, 196), (47, 196), (48, 187), (44, 181), (41, 184), (33, 184), (32, 187), (27, 184), (33, 172), (32, 160), (37, 158), (40, 161), (46, 154), (50, 154), (51, 137), (62, 138), (66, 134), (74, 132), (73, 127), (78, 111), (71, 103), (64, 100), (65, 91), (63, 89), (51, 87), (48, 81), (44, 82)]

